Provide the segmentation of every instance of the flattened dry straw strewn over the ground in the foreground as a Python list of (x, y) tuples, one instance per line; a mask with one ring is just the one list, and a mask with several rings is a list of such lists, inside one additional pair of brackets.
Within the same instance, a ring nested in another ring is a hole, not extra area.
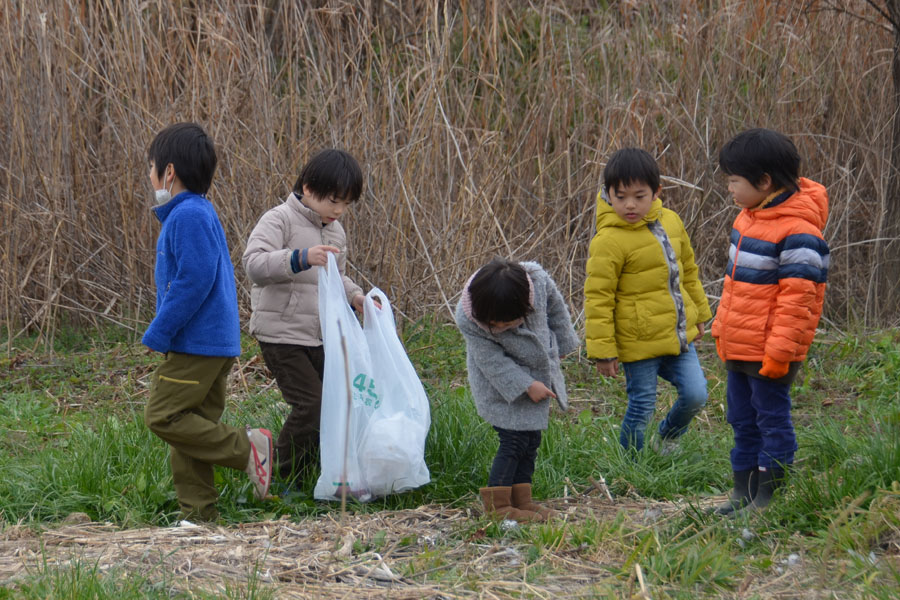
[[(596, 492), (549, 504), (572, 526), (621, 516), (623, 530), (629, 531), (626, 539), (696, 508), (641, 499), (610, 502)], [(317, 600), (506, 600), (598, 593), (648, 598), (681, 589), (648, 584), (639, 563), (623, 572), (634, 548), (621, 540), (576, 549), (546, 545), (535, 559), (528, 557), (528, 543), (515, 536), (489, 538), (475, 530), (476, 516), (468, 509), (431, 505), (349, 515), (343, 523), (328, 515), (233, 527), (119, 530), (73, 518), (74, 524), (39, 532), (7, 527), (0, 531), (0, 585), (14, 588), (37, 573), (80, 566), (100, 575), (137, 574), (157, 585), (165, 582), (173, 592), (256, 586), (277, 598)], [(380, 547), (373, 549), (379, 538)], [(429, 555), (436, 558), (429, 562)], [(721, 597), (797, 599), (832, 593), (809, 563), (803, 559), (794, 567), (773, 567), (768, 574), (748, 571), (735, 589), (721, 590)]]

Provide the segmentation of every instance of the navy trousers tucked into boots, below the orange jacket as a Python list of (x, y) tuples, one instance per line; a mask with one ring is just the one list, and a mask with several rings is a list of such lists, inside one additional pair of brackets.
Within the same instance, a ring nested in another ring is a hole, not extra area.
[(791, 386), (728, 372), (728, 411), (734, 430), (731, 468), (783, 467), (794, 462), (797, 437), (791, 422)]

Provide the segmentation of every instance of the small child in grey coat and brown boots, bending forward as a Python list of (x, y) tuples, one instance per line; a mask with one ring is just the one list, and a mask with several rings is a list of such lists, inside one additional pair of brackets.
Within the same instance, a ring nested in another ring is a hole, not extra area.
[(531, 477), (551, 399), (568, 408), (560, 359), (579, 340), (565, 301), (539, 264), (494, 259), (466, 283), (456, 324), (478, 414), (500, 437), (488, 487), (479, 490), (485, 512), (546, 520), (552, 511), (532, 502)]

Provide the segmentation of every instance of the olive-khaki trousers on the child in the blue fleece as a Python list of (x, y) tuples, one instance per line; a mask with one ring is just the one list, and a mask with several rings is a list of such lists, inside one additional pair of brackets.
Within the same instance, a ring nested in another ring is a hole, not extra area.
[(250, 456), (244, 429), (220, 423), (233, 358), (168, 352), (153, 372), (144, 423), (169, 444), (181, 518), (214, 521), (213, 465), (243, 471)]

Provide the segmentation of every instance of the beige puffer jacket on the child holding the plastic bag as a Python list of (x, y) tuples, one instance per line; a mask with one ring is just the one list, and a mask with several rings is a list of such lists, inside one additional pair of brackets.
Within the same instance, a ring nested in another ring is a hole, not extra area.
[[(336, 246), (341, 273), (347, 264), (347, 236), (337, 221), (322, 219), (293, 193), (283, 204), (260, 218), (244, 251), (243, 264), (253, 282), (250, 289), (250, 334), (262, 342), (320, 346), (319, 267), (294, 273), (291, 253), (295, 248)], [(362, 289), (344, 275), (347, 301)]]

